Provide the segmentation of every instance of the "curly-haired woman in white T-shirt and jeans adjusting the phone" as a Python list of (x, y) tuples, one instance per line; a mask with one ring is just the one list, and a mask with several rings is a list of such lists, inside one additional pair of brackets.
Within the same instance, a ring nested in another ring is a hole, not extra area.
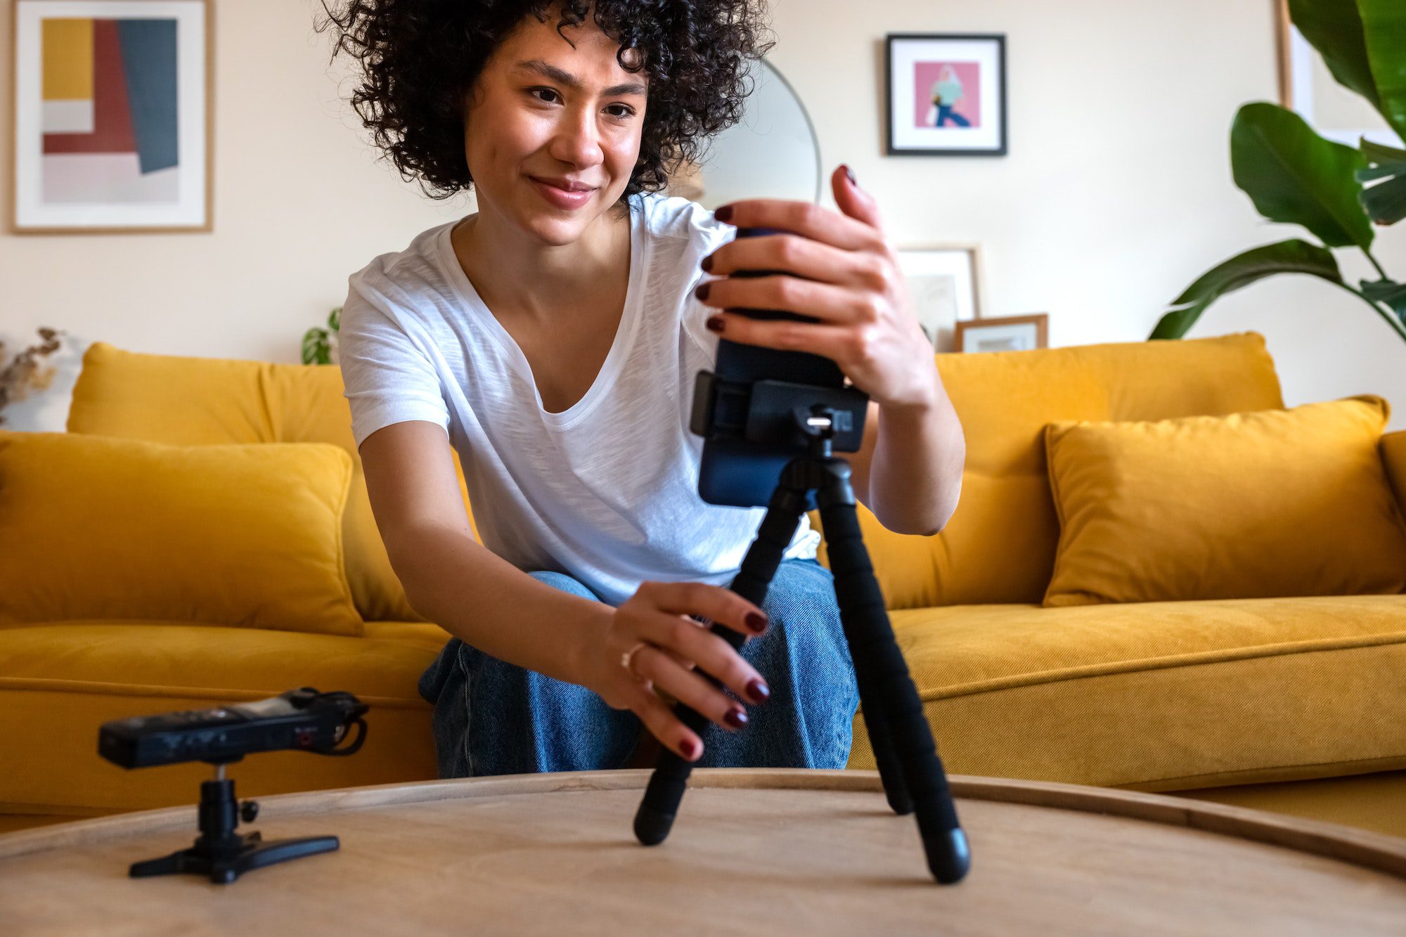
[[(659, 194), (740, 120), (747, 59), (769, 48), (756, 17), (749, 0), (354, 0), (333, 17), (377, 142), (433, 197), (472, 186), (478, 203), (350, 277), (339, 346), (388, 556), (454, 635), (420, 680), (440, 777), (644, 764), (651, 739), (702, 765), (845, 765), (858, 699), (820, 532), (801, 519), (756, 608), (725, 587), (765, 509), (697, 497), (692, 385), (718, 331), (828, 355), (870, 393), (853, 485), (886, 526), (935, 532), (956, 504), (960, 426), (869, 197), (838, 172), (844, 215), (752, 200), (728, 218)], [(740, 224), (797, 235), (731, 243)], [(806, 287), (725, 279), (745, 267)], [(703, 270), (724, 279), (695, 295)], [(706, 746), (661, 694), (718, 727)]]

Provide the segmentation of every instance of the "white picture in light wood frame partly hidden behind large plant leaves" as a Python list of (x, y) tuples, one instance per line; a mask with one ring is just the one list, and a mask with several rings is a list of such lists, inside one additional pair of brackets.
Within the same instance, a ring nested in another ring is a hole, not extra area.
[(1274, 0), (1279, 41), (1279, 103), (1295, 111), (1319, 136), (1354, 149), (1362, 138), (1400, 146), (1386, 120), (1362, 96), (1333, 77), (1323, 56), (1289, 21), (1288, 0)]

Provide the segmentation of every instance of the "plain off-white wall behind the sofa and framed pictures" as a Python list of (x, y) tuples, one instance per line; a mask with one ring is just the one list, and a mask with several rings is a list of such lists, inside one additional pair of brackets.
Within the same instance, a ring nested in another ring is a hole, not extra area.
[[(0, 0), (0, 23), (11, 4)], [(352, 272), (474, 210), (465, 196), (430, 201), (375, 160), (342, 100), (347, 62), (328, 66), (330, 34), (311, 28), (316, 0), (214, 6), (215, 229), (0, 234), (8, 353), (39, 325), (70, 342), (55, 385), (7, 408), (10, 429), (63, 428), (94, 339), (297, 362)], [(853, 167), (890, 241), (981, 245), (987, 315), (1049, 312), (1052, 345), (1140, 340), (1202, 272), (1299, 234), (1260, 219), (1230, 179), (1236, 108), (1277, 96), (1272, 11), (1272, 0), (772, 0), (769, 58), (810, 110), (827, 170)], [(884, 32), (1005, 32), (1011, 155), (883, 156)], [(6, 56), (4, 100), (11, 79)], [(0, 145), (8, 162), (8, 121)], [(1339, 253), (1354, 279), (1369, 272)], [(1385, 229), (1375, 253), (1406, 277), (1406, 225)], [(1289, 405), (1376, 393), (1406, 428), (1406, 342), (1360, 300), (1279, 277), (1216, 304), (1191, 335), (1246, 329), (1268, 339)]]

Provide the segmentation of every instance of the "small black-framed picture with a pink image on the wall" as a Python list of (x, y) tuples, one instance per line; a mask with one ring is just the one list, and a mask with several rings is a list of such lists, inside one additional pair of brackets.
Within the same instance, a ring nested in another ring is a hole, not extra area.
[(889, 32), (890, 156), (1004, 156), (1005, 35)]

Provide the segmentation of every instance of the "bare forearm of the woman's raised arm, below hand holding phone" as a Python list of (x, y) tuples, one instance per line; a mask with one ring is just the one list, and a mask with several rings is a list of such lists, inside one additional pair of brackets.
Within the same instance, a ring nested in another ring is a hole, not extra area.
[(896, 533), (938, 533), (957, 508), (966, 436), (941, 380), (931, 402), (879, 415), (869, 508)]

